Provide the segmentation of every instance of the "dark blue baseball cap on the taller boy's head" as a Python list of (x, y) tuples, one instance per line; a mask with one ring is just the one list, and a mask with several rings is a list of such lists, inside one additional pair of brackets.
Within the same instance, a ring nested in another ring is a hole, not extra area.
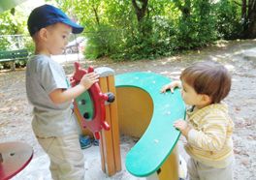
[(28, 17), (27, 27), (30, 36), (33, 36), (40, 29), (48, 25), (62, 22), (72, 27), (72, 33), (80, 34), (83, 27), (71, 20), (68, 15), (64, 14), (60, 9), (51, 5), (43, 5), (35, 8)]

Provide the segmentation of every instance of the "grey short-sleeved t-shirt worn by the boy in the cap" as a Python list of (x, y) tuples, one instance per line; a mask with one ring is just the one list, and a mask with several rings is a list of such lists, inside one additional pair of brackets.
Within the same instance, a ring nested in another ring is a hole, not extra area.
[(63, 68), (47, 55), (35, 55), (26, 66), (26, 93), (33, 105), (32, 128), (38, 136), (60, 136), (77, 132), (72, 102), (55, 105), (48, 94), (68, 89)]

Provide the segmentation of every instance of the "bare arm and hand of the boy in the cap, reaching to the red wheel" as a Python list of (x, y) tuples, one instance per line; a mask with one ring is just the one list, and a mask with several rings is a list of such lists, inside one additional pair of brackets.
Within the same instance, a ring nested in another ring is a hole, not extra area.
[(90, 73), (83, 75), (80, 84), (70, 89), (55, 89), (49, 93), (49, 98), (54, 104), (63, 104), (65, 102), (71, 102), (73, 99), (80, 96), (85, 90), (89, 89), (90, 86), (97, 82), (99, 75)]

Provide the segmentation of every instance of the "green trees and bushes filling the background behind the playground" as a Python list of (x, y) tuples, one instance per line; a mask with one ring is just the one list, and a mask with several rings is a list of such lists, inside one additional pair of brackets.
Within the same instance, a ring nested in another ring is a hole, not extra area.
[[(55, 0), (85, 27), (85, 56), (154, 59), (218, 39), (256, 37), (256, 0)], [(48, 3), (52, 1), (48, 0)], [(22, 27), (9, 12), (1, 30)], [(11, 28), (12, 27), (12, 28)], [(15, 27), (15, 28), (14, 28)], [(17, 28), (17, 29), (16, 29)]]

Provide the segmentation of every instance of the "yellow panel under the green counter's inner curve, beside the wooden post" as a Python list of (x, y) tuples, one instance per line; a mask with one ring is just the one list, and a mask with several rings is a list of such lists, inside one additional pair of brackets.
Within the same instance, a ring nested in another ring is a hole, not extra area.
[(134, 87), (118, 87), (116, 96), (120, 133), (141, 137), (152, 117), (153, 103), (150, 96)]

